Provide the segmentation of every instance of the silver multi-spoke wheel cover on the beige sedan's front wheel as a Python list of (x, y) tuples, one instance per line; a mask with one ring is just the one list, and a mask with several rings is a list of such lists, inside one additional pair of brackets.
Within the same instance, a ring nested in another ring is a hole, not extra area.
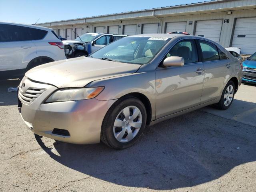
[(116, 140), (125, 143), (131, 141), (140, 131), (142, 114), (138, 107), (128, 106), (116, 116), (113, 132)]

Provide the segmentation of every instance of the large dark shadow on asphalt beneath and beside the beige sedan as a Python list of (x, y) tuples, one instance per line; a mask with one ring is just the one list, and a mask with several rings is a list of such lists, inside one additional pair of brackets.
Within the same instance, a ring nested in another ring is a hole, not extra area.
[(218, 179), (232, 168), (256, 160), (254, 126), (200, 110), (146, 128), (125, 150), (104, 144), (54, 142), (54, 160), (86, 175), (130, 187), (171, 190)]

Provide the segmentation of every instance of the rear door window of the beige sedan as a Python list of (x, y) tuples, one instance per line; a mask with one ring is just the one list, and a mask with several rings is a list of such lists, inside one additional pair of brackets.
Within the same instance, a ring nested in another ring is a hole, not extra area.
[(203, 61), (216, 61), (220, 60), (217, 47), (206, 41), (199, 41), (202, 54), (203, 54)]

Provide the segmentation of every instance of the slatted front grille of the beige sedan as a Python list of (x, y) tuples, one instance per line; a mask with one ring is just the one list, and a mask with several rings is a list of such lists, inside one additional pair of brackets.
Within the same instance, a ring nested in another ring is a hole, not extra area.
[(18, 95), (20, 100), (25, 104), (31, 104), (36, 98), (38, 98), (46, 89), (42, 88), (28, 88), (25, 93), (22, 93), (19, 89)]

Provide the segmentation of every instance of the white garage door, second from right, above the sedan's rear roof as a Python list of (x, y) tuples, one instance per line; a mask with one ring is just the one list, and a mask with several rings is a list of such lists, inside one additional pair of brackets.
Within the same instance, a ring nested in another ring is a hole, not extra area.
[(208, 38), (217, 43), (220, 41), (222, 19), (196, 22), (196, 35)]

